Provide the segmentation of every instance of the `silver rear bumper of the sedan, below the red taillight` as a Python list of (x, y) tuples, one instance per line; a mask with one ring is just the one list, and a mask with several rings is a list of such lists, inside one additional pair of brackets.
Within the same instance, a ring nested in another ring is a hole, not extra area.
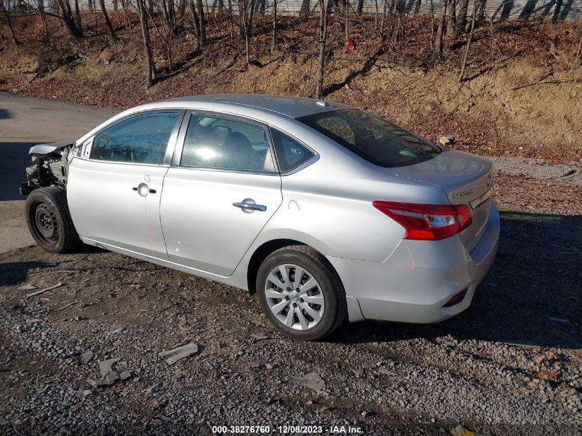
[[(384, 262), (328, 257), (346, 289), (350, 321), (430, 323), (469, 307), (499, 246), (499, 211), (491, 202), (486, 231), (469, 253), (459, 236), (439, 241), (402, 240)], [(457, 293), (464, 298), (443, 307)]]

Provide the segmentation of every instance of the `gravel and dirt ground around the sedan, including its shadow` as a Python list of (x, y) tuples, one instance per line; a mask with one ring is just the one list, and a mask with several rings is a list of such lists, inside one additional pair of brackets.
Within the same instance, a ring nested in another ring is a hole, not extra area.
[[(116, 253), (0, 255), (0, 433), (337, 424), (444, 435), (457, 422), (487, 435), (582, 433), (582, 191), (496, 184), (499, 255), (467, 311), (432, 325), (346, 323), (318, 343), (274, 331), (256, 295)], [(190, 342), (198, 351), (176, 364), (158, 355)], [(95, 386), (110, 358), (127, 378)], [(295, 380), (310, 373), (311, 387)]]

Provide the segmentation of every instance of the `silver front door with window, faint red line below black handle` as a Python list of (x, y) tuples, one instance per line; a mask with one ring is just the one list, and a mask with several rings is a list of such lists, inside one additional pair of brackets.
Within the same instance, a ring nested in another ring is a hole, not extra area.
[(168, 259), (160, 197), (183, 114), (164, 110), (123, 118), (76, 152), (67, 202), (87, 242)]

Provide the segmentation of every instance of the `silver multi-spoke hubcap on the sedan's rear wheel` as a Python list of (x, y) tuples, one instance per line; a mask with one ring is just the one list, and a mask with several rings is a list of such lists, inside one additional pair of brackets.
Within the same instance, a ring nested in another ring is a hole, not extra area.
[(295, 264), (274, 268), (264, 284), (264, 295), (277, 320), (295, 330), (313, 329), (325, 310), (320, 284), (309, 271)]

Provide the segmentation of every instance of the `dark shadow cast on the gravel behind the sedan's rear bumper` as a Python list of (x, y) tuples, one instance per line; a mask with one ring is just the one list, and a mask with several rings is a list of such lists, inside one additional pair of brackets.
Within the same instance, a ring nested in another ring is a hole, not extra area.
[[(471, 306), (439, 324), (361, 322), (331, 342), (460, 339), (582, 348), (582, 216), (501, 213), (501, 242)], [(556, 322), (549, 317), (568, 320)]]

